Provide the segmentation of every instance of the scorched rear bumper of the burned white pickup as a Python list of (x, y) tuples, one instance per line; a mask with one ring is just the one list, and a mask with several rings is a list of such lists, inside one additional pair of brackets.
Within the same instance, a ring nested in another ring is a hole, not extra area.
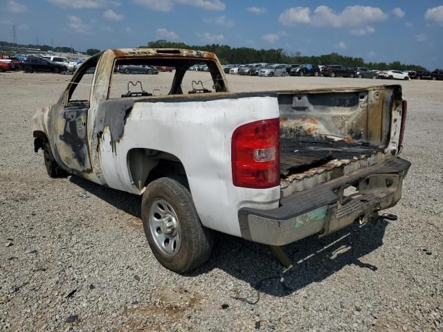
[[(401, 185), (410, 163), (392, 158), (296, 192), (282, 199), (279, 208), (239, 210), (242, 237), (271, 246), (283, 246), (309, 237), (324, 236), (394, 206), (401, 198)], [(345, 188), (356, 191), (345, 196)]]

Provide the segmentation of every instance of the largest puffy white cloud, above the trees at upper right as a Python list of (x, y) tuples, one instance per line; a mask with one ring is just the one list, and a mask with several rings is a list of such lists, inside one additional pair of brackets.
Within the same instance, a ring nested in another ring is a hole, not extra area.
[(388, 18), (383, 10), (370, 6), (347, 6), (336, 14), (327, 6), (318, 6), (314, 12), (307, 7), (289, 8), (282, 12), (278, 21), (285, 26), (311, 24), (312, 26), (359, 27), (370, 22), (384, 21)]

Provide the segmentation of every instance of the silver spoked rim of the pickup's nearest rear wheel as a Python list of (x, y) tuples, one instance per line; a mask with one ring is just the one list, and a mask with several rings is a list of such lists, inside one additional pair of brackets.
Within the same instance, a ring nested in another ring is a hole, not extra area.
[(165, 199), (154, 199), (150, 208), (150, 231), (157, 248), (168, 256), (179, 253), (181, 229), (179, 218)]

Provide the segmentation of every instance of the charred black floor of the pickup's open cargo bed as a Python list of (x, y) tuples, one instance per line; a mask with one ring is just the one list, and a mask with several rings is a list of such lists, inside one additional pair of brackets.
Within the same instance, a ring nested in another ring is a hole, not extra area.
[(327, 136), (298, 134), (293, 138), (280, 138), (280, 173), (283, 176), (320, 167), (331, 160), (354, 159), (371, 156), (383, 147), (368, 142), (335, 140)]

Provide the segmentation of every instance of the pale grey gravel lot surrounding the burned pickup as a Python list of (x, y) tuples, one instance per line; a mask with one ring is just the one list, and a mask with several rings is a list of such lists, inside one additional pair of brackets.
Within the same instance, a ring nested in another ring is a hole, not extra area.
[[(0, 331), (443, 331), (443, 82), (401, 82), (402, 156), (413, 166), (390, 209), (398, 221), (293, 243), (287, 273), (266, 246), (220, 234), (205, 266), (177, 275), (147, 245), (139, 197), (48, 178), (33, 152), (31, 118), (69, 78), (0, 75)], [(233, 91), (386, 83), (228, 82)]]

